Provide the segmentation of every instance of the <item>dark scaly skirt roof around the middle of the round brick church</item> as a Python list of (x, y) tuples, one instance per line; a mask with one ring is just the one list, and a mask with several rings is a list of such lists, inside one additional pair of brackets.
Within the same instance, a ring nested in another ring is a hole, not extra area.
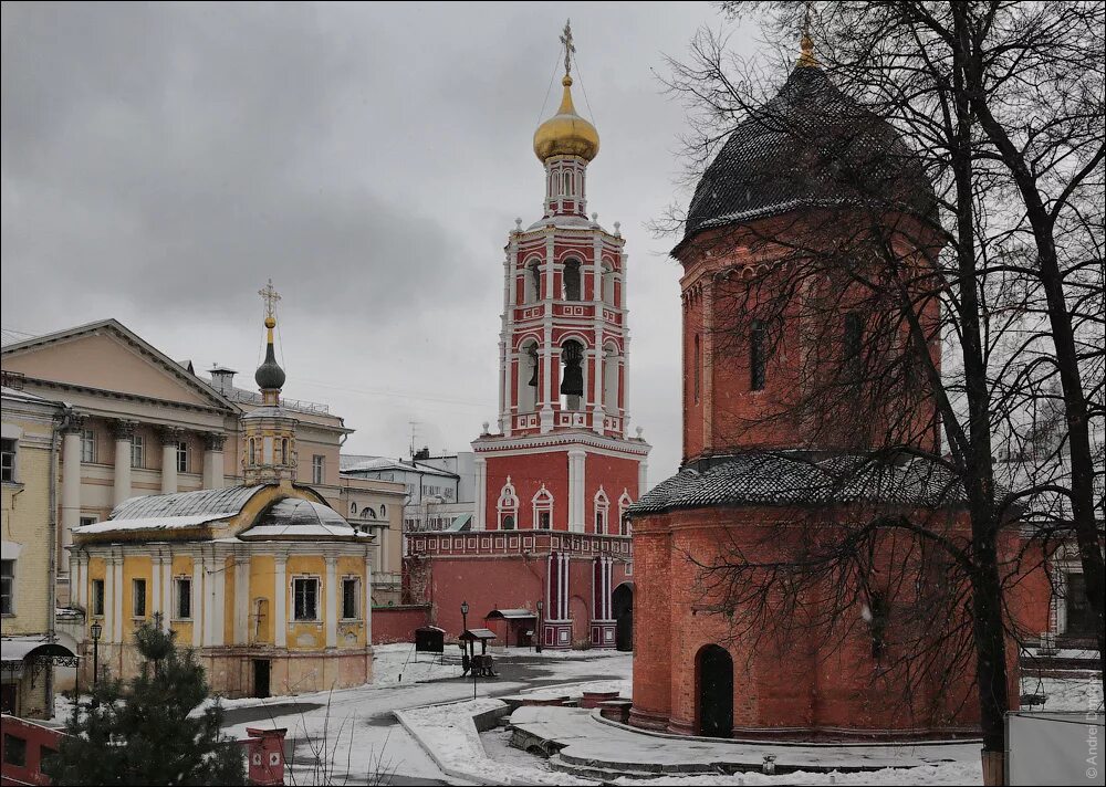
[(758, 452), (685, 468), (632, 505), (632, 516), (712, 506), (821, 506), (880, 503), (929, 508), (964, 503), (963, 486), (943, 466), (922, 459), (901, 464), (869, 457)]

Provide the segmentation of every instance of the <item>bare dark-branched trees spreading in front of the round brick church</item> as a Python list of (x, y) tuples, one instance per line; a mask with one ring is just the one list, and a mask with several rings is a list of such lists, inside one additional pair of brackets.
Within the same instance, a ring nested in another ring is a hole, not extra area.
[[(898, 638), (887, 650), (904, 671), (969, 659), (984, 749), (1000, 756), (1008, 641), (1027, 634), (1005, 605), (1057, 544), (1077, 545), (1104, 647), (1104, 7), (723, 7), (755, 15), (780, 52), (808, 25), (824, 80), (796, 69), (779, 88), (776, 72), (701, 31), (667, 78), (689, 108), (689, 179), (702, 178), (668, 228), (687, 231), (684, 260), (740, 261), (711, 282), (701, 327), (765, 391), (755, 411), (723, 413), (727, 442), (802, 434), (792, 448), (827, 489), (793, 548), (778, 534), (770, 552), (731, 545), (702, 565), (703, 591), (757, 610), (735, 617), (735, 636), (787, 620), (839, 639), (862, 605), (874, 640)], [(733, 129), (750, 124), (791, 164), (747, 167), (744, 187), (790, 207), (697, 223), (729, 159), (749, 158)], [(764, 386), (765, 374), (782, 379)], [(833, 538), (816, 537), (873, 474), (875, 507), (851, 510), (844, 538), (839, 516)], [(907, 487), (924, 492), (896, 492)], [(889, 604), (897, 628), (880, 622)]]

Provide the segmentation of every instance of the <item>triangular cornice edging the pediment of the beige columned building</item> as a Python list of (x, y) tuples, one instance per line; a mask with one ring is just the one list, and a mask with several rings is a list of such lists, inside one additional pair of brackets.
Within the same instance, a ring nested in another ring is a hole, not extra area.
[[(189, 371), (187, 367), (181, 366), (180, 363), (174, 360), (165, 353), (154, 347), (152, 344), (138, 336), (138, 334), (131, 330), (131, 328), (126, 327), (123, 323), (115, 318), (100, 319), (94, 323), (66, 328), (65, 330), (58, 330), (52, 334), (34, 336), (29, 339), (23, 339), (22, 342), (14, 342), (12, 344), (4, 345), (2, 348), (4, 366), (6, 368), (14, 368), (17, 371), (22, 370), (19, 368), (20, 364), (18, 363), (18, 359), (22, 356), (27, 356), (45, 348), (64, 345), (74, 340), (81, 340), (87, 337), (105, 334), (123, 344), (146, 361), (153, 364), (178, 385), (191, 391), (194, 396), (202, 400), (208, 407), (221, 410), (231, 410), (234, 412), (240, 411), (241, 408), (219, 394), (219, 391), (208, 385), (207, 381), (197, 377), (195, 374)], [(27, 374), (27, 376), (28, 378), (36, 377), (34, 374)], [(54, 380), (50, 377), (43, 377), (42, 379), (51, 382), (75, 385), (77, 387), (103, 388), (102, 386), (82, 386), (77, 380)], [(111, 389), (104, 388), (104, 390)], [(133, 391), (118, 392), (132, 394)]]

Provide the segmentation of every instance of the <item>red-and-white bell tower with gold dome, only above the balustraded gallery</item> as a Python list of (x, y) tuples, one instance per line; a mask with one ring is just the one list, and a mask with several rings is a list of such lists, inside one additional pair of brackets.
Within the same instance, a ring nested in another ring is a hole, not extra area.
[[(503, 518), (495, 501), (512, 474), (523, 508), (533, 504), (541, 515), (509, 514), (507, 521), (526, 527), (533, 518), (539, 528), (547, 523), (553, 529), (594, 532), (589, 503), (598, 487), (613, 500), (624, 492), (636, 500), (648, 452), (640, 438), (628, 436), (626, 241), (617, 222), (609, 231), (596, 213), (586, 213), (587, 169), (598, 155), (599, 134), (573, 101), (576, 48), (568, 24), (561, 45), (561, 104), (533, 138), (545, 174), (542, 217), (529, 227), (517, 219), (504, 250), (499, 430), (486, 430), (473, 443), (478, 472), (484, 453), (492, 462), (491, 452), (508, 445), (533, 458), (515, 462), (536, 465), (528, 472), (504, 469), (502, 478), (489, 465), (487, 512), (477, 516), (489, 528)], [(629, 464), (618, 479), (604, 478), (585, 469), (586, 445), (623, 454)], [(553, 478), (554, 468), (563, 479)], [(617, 524), (615, 516), (611, 521)]]

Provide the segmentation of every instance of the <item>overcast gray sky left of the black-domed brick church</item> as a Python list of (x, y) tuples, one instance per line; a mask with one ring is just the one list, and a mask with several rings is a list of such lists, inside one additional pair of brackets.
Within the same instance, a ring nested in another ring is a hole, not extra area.
[[(466, 450), (495, 419), (502, 248), (539, 218), (531, 137), (571, 17), (602, 151), (589, 210), (630, 254), (630, 415), (650, 482), (680, 454), (678, 265), (645, 223), (680, 197), (664, 54), (699, 3), (2, 7), (2, 326), (116, 317), (252, 386), (257, 291), (285, 395), (346, 450)], [(744, 45), (749, 36), (734, 39)], [(588, 112), (588, 105), (592, 112)], [(686, 199), (686, 196), (684, 196)]]

